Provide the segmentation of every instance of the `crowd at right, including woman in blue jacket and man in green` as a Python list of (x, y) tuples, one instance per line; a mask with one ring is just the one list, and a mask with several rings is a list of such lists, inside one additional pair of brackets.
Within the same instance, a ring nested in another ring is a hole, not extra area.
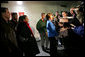
[[(58, 11), (47, 15), (41, 13), (36, 29), (41, 36), (42, 49), (47, 50), (51, 56), (58, 56), (57, 47), (64, 46), (63, 56), (81, 55), (84, 43), (83, 12), (82, 7), (73, 7), (70, 12), (62, 11), (61, 14)], [(50, 48), (48, 48), (49, 42)]]

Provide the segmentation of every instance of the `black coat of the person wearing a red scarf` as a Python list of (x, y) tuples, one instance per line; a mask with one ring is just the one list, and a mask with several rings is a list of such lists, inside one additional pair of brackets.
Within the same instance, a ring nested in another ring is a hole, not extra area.
[(29, 56), (39, 53), (35, 37), (31, 36), (32, 32), (25, 22), (21, 22), (17, 27), (17, 39), (19, 47)]

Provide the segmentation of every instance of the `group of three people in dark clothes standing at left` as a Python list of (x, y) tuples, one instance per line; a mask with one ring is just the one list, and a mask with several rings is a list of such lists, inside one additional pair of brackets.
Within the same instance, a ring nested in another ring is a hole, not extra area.
[(29, 26), (26, 15), (20, 16), (10, 12), (8, 8), (1, 7), (1, 56), (36, 56), (40, 53), (33, 31)]

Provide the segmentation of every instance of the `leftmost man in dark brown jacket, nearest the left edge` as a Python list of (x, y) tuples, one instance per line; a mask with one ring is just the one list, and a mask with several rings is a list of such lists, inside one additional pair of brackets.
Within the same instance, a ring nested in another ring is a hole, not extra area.
[(9, 25), (10, 12), (8, 8), (1, 7), (1, 37), (0, 55), (1, 56), (22, 56), (18, 48), (16, 35)]

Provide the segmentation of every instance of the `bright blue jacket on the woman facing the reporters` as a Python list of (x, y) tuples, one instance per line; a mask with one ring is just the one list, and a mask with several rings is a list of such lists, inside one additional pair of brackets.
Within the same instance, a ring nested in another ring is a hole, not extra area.
[(50, 20), (47, 21), (46, 28), (48, 32), (48, 37), (58, 36), (58, 33), (56, 32), (56, 29), (55, 29), (55, 25)]

